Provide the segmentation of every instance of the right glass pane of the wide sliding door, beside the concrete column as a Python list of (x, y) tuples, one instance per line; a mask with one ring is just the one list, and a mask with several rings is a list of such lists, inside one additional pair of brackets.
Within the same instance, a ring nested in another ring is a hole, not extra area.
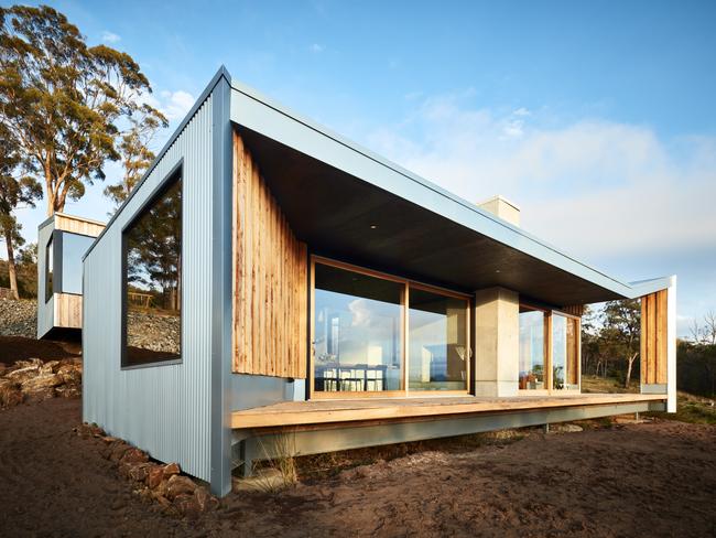
[(467, 388), (467, 301), (410, 289), (411, 390)]

